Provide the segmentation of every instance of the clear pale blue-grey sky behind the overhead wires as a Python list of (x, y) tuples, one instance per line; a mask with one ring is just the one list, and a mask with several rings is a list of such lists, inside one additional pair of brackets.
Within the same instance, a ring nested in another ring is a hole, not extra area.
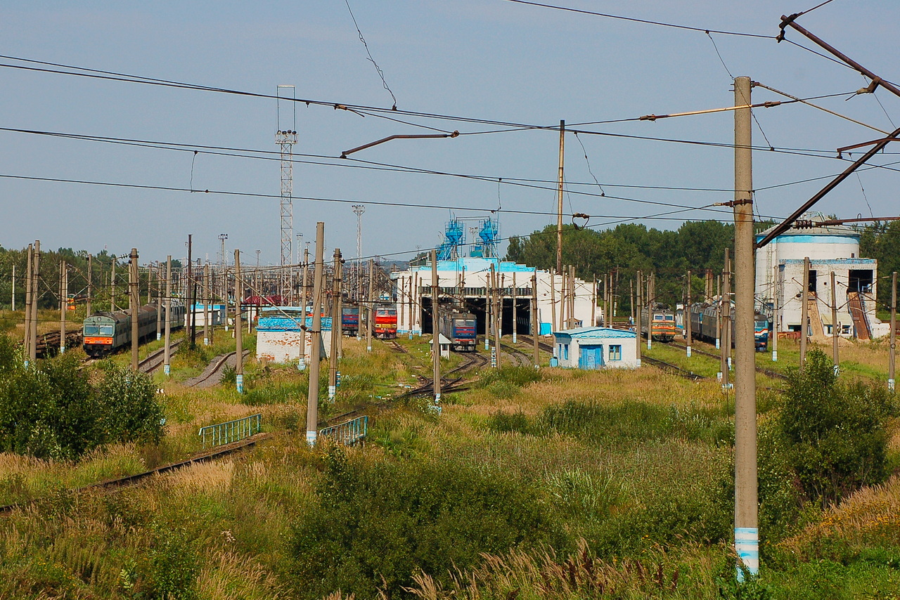
[[(791, 43), (821, 51), (797, 31), (776, 42), (780, 16), (806, 11), (815, 0), (551, 3), (768, 38), (509, 0), (347, 2), (0, 1), (0, 246), (40, 239), (44, 248), (119, 255), (137, 247), (143, 263), (184, 256), (193, 234), (193, 255), (217, 262), (218, 236), (226, 233), (229, 262), (239, 248), (245, 263), (255, 263), (258, 249), (262, 264), (278, 264), (279, 116), (298, 137), (295, 232), (312, 241), (316, 222), (324, 221), (326, 251), (340, 247), (356, 257), (352, 205), (363, 204), (362, 254), (389, 259), (437, 246), (452, 215), (492, 215), (502, 237), (555, 222), (558, 130), (477, 121), (557, 128), (564, 120), (581, 130), (565, 136), (564, 221), (586, 213), (599, 229), (620, 221), (678, 228), (684, 219), (731, 218), (730, 209), (710, 205), (734, 195), (734, 113), (634, 119), (733, 106), (733, 76), (802, 98), (841, 94), (810, 102), (862, 123), (801, 103), (756, 109), (753, 181), (761, 218), (787, 216), (848, 166), (836, 148), (881, 138), (878, 130), (900, 124), (900, 98), (884, 89), (854, 94), (868, 81)], [(797, 22), (900, 81), (893, 31), (900, 4), (833, 0)], [(67, 70), (21, 59), (268, 96), (277, 85), (294, 85), (296, 98), (314, 102), (279, 108), (271, 97), (14, 68)], [(401, 111), (462, 119), (334, 108), (390, 109), (392, 94)], [(752, 94), (754, 103), (788, 99), (761, 86)], [(462, 135), (395, 139), (340, 158), (391, 135), (454, 130)], [(870, 161), (885, 168), (851, 175), (817, 210), (842, 218), (898, 214), (898, 153), (900, 147), (888, 147)]]

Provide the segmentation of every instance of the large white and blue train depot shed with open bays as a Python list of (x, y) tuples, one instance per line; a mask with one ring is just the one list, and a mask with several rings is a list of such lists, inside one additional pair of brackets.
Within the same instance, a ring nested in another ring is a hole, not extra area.
[[(574, 327), (593, 325), (591, 318), (601, 317), (599, 307), (592, 308), (596, 296), (591, 282), (551, 274), (542, 269), (501, 261), (496, 257), (464, 256), (437, 261), (437, 279), (442, 310), (459, 309), (475, 315), (476, 333), (485, 335), (491, 265), (500, 293), (502, 335), (532, 334), (532, 277), (537, 280), (537, 322), (542, 336), (549, 336), (569, 322)], [(398, 335), (431, 333), (432, 265), (410, 266), (391, 274), (397, 307)], [(568, 301), (566, 301), (568, 300)], [(515, 306), (515, 318), (513, 317)]]

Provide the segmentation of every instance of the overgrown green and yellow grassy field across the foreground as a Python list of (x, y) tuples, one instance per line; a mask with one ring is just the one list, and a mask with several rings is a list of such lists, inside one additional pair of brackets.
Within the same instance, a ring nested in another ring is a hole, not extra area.
[[(347, 340), (344, 387), (324, 412), (397, 395), (428, 374), (427, 345), (400, 342), (410, 354), (377, 342), (365, 354), (365, 342)], [(678, 352), (653, 348), (685, 366)], [(0, 597), (315, 598), (341, 589), (363, 598), (384, 587), (392, 597), (428, 598), (733, 593), (734, 400), (715, 381), (652, 367), (489, 373), (482, 386), (452, 394), (440, 416), (416, 402), (375, 412), (370, 442), (344, 452), (306, 446), (305, 374), (251, 362), (243, 397), (225, 386), (186, 390), (177, 380), (202, 361), (181, 358), (184, 371), (163, 385), (160, 447), (111, 448), (78, 465), (0, 459), (5, 497), (50, 492), (0, 521)], [(880, 368), (878, 350), (860, 348), (852, 360)], [(717, 363), (698, 357), (688, 368), (715, 378)], [(836, 506), (801, 505), (779, 453), (766, 452), (780, 401), (768, 393), (756, 592), (896, 595), (900, 479)], [(252, 451), (114, 494), (63, 490), (99, 475), (104, 461), (151, 464), (189, 452), (199, 425), (257, 411), (278, 435)], [(896, 465), (896, 433), (890, 452)], [(56, 488), (34, 483), (54, 478)]]

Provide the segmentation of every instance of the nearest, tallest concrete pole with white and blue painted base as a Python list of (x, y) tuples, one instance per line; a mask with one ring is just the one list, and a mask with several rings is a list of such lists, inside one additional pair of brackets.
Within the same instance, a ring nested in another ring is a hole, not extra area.
[[(734, 104), (750, 104), (750, 77), (734, 79)], [(734, 112), (734, 550), (739, 564), (754, 576), (760, 571), (757, 518), (756, 358), (753, 341), (755, 269), (753, 267), (752, 113)], [(729, 314), (731, 310), (729, 310)], [(729, 344), (730, 346), (731, 344)], [(729, 348), (730, 349), (730, 348)], [(743, 570), (738, 569), (743, 578)]]

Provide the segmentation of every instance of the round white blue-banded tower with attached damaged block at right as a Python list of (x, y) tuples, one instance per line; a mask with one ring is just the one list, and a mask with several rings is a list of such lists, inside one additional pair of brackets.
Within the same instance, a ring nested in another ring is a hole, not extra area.
[[(824, 220), (821, 215), (804, 219)], [(757, 241), (770, 229), (756, 235)], [(809, 286), (803, 293), (804, 258), (809, 258)], [(832, 282), (837, 307), (832, 318)], [(844, 225), (793, 228), (775, 237), (756, 255), (757, 309), (770, 317), (778, 308), (774, 328), (800, 332), (803, 302), (808, 309), (807, 336), (824, 338), (836, 327), (843, 337), (860, 340), (885, 336), (888, 325), (875, 316), (878, 261), (860, 256), (860, 234)]]

